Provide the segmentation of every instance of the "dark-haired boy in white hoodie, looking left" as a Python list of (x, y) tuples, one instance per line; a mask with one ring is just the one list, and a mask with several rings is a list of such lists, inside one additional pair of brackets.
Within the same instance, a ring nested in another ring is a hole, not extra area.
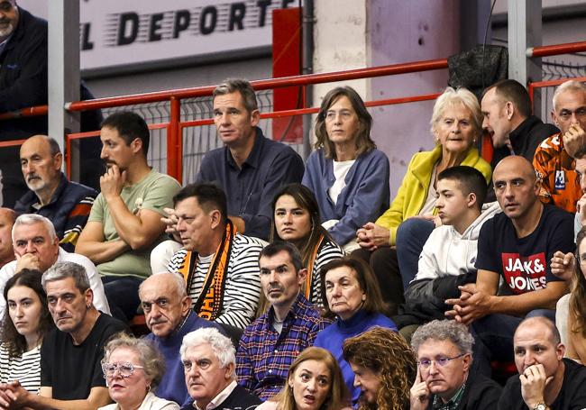
[(398, 320), (402, 325), (444, 319), (444, 300), (459, 297), (458, 286), (476, 282), (478, 235), (482, 223), (500, 211), (491, 203), (481, 212), (486, 180), (477, 169), (457, 166), (437, 177), (435, 207), (442, 226), (427, 239), (416, 277), (405, 291), (406, 305)]

